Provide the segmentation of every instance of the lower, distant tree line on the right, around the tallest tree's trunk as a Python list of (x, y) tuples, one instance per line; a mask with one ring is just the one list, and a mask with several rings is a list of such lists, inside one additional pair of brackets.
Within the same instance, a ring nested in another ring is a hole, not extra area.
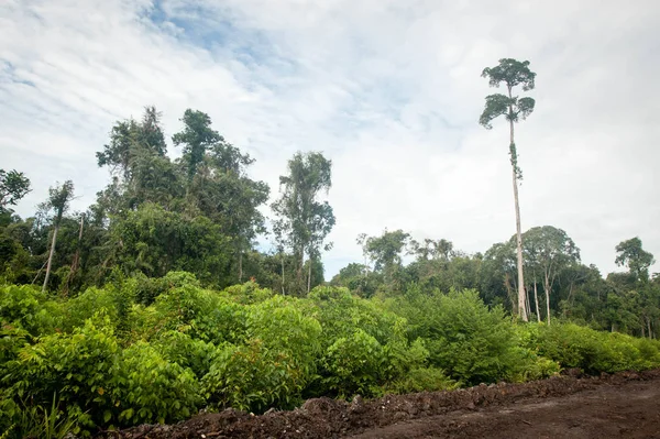
[[(480, 292), (491, 305), (518, 310), (517, 242), (493, 244), (468, 254), (446, 239), (417, 241), (404, 230), (381, 235), (361, 234), (364, 262), (341, 268), (331, 284), (362, 297), (405, 296), (410, 290)], [(525, 317), (551, 323), (570, 320), (595, 329), (656, 338), (660, 325), (660, 275), (650, 275), (653, 255), (639, 238), (616, 245), (615, 262), (627, 272), (605, 277), (595, 265), (583, 264), (580, 249), (568, 233), (552, 226), (521, 234)], [(614, 254), (614, 252), (613, 252)], [(411, 262), (405, 264), (406, 259)]]

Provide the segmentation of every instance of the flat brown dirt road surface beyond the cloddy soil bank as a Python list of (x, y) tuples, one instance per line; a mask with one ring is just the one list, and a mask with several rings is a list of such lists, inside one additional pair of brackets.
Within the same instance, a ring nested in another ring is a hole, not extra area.
[(352, 438), (660, 438), (660, 380), (375, 428)]

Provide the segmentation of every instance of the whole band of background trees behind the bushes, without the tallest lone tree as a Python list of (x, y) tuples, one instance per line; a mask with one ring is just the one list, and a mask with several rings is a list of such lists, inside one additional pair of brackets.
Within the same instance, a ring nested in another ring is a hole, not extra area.
[[(189, 272), (217, 289), (254, 279), (274, 292), (304, 296), (323, 284), (321, 253), (332, 245), (327, 237), (336, 222), (322, 199), (332, 185), (331, 162), (318, 152), (289, 160), (271, 206), (274, 250), (260, 251), (256, 238), (268, 233), (262, 210), (271, 188), (249, 177), (254, 160), (213, 130), (208, 114), (188, 109), (180, 121), (172, 136), (182, 152), (176, 160), (167, 155), (155, 108), (145, 108), (140, 120), (118, 121), (97, 152), (110, 182), (84, 212), (69, 211), (75, 185), (65, 182), (51, 188), (33, 217), (18, 217), (12, 206), (30, 190), (30, 180), (24, 173), (2, 171), (4, 282), (36, 283), (63, 296), (118, 276), (146, 279), (173, 271)], [(358, 243), (363, 261), (342, 268), (330, 284), (362, 297), (474, 288), (486, 304), (518, 310), (515, 235), (475, 254), (446, 239), (417, 241), (404, 230), (361, 234)], [(660, 278), (649, 273), (653, 256), (639, 238), (614, 250), (616, 263), (628, 272), (604, 278), (582, 263), (563, 230), (544, 226), (524, 232), (528, 316), (654, 337)]]

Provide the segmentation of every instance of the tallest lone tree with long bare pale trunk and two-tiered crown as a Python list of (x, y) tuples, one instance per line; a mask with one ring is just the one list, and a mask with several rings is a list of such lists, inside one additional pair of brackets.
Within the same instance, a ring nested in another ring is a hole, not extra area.
[(491, 122), (504, 116), (509, 122), (509, 155), (514, 180), (514, 200), (516, 206), (516, 234), (518, 250), (518, 315), (527, 321), (525, 277), (522, 274), (522, 232), (520, 231), (520, 205), (518, 202), (518, 180), (522, 179), (522, 172), (518, 166), (518, 152), (514, 142), (514, 122), (525, 120), (534, 111), (535, 100), (532, 98), (518, 98), (513, 95), (514, 87), (522, 86), (524, 91), (534, 89), (536, 74), (529, 69), (529, 62), (519, 62), (512, 58), (499, 59), (499, 65), (486, 67), (482, 77), (488, 78), (491, 87), (499, 87), (505, 84), (508, 94), (495, 94), (486, 96), (486, 106), (479, 119), (486, 129), (492, 129)]

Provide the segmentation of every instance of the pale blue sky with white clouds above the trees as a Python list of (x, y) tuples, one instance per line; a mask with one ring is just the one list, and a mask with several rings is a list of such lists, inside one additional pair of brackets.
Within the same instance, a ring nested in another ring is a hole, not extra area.
[(654, 0), (0, 0), (0, 167), (32, 180), (22, 216), (69, 178), (85, 209), (116, 121), (154, 105), (170, 138), (191, 108), (272, 198), (295, 152), (332, 161), (327, 277), (385, 228), (485, 252), (515, 212), (506, 122), (477, 123), (497, 92), (481, 73), (528, 59), (522, 229), (565, 230), (607, 273), (632, 237), (660, 259), (658, 23)]

